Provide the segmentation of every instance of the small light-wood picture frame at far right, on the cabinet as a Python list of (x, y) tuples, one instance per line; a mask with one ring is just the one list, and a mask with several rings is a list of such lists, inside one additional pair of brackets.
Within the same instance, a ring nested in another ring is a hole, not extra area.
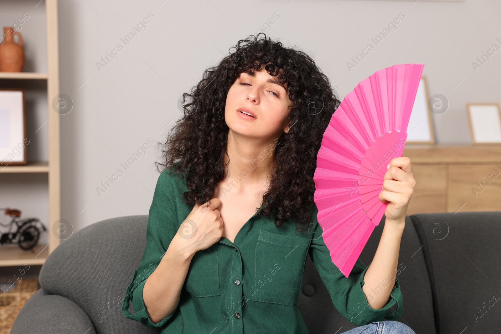
[(472, 145), (501, 145), (501, 111), (497, 103), (467, 103)]

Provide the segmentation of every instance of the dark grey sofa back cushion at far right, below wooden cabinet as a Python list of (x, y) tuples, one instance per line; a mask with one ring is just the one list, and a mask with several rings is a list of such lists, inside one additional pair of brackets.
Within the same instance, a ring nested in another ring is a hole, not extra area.
[(498, 333), (501, 211), (424, 213), (411, 219), (423, 244), (438, 331)]

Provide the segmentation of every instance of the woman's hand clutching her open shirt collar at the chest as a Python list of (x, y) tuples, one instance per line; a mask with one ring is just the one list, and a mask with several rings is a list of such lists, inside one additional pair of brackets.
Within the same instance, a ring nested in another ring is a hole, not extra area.
[[(207, 205), (210, 205), (207, 207)], [(195, 206), (181, 223), (177, 234), (189, 244), (193, 254), (219, 241), (223, 234), (223, 222), (217, 209), (221, 201), (214, 197), (202, 205)]]

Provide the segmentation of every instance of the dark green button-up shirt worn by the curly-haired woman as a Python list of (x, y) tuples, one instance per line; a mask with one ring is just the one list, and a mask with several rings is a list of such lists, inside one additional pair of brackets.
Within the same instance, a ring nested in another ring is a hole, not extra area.
[[(149, 328), (161, 327), (166, 334), (244, 331), (306, 334), (308, 329), (297, 305), (308, 254), (334, 306), (353, 324), (361, 326), (402, 315), (398, 278), (390, 301), (383, 308), (373, 309), (362, 290), (368, 267), (358, 259), (348, 278), (340, 272), (324, 243), (315, 208), (307, 233), (297, 232), (292, 219), (278, 228), (274, 213), (270, 219), (258, 218), (255, 213), (238, 231), (234, 242), (221, 237), (209, 248), (197, 251), (191, 259), (178, 305), (154, 323), (144, 305), (143, 287), (193, 209), (182, 199), (187, 190), (186, 173), (181, 179), (164, 170), (158, 177), (149, 209), (146, 247), (123, 299), (122, 312), (126, 317)], [(130, 302), (134, 314), (129, 311)], [(393, 313), (390, 307), (395, 303), (398, 306)]]

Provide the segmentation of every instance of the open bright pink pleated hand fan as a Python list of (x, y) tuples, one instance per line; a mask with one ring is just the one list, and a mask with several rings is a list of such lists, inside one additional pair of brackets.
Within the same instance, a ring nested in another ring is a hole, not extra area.
[(361, 81), (324, 132), (314, 201), (332, 262), (346, 277), (388, 206), (379, 193), (386, 166), (402, 156), (423, 67), (394, 65)]

